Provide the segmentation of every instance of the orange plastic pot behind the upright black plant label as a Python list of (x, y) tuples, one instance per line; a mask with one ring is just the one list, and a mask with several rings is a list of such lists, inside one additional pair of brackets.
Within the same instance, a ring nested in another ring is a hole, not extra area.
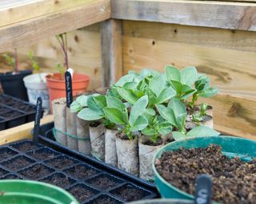
[[(90, 77), (80, 73), (74, 73), (72, 78), (73, 96), (79, 92), (85, 92), (89, 85)], [(66, 96), (65, 80), (61, 78), (59, 73), (46, 76), (46, 84), (49, 90), (50, 103), (51, 101)]]

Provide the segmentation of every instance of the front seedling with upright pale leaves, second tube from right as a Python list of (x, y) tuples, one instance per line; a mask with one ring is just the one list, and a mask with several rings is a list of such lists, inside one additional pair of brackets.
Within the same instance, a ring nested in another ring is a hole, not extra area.
[(129, 139), (134, 139), (136, 131), (142, 131), (147, 127), (148, 121), (143, 114), (146, 112), (148, 96), (142, 96), (134, 103), (130, 109), (130, 115), (121, 100), (110, 96), (107, 97), (107, 101), (107, 107), (103, 108), (103, 112)]

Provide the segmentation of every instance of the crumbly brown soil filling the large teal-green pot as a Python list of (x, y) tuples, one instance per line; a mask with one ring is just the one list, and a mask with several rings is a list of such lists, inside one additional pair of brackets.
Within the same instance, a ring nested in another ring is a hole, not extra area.
[(200, 174), (213, 179), (213, 200), (221, 203), (248, 203), (256, 200), (256, 159), (244, 162), (238, 157), (222, 155), (221, 147), (166, 151), (155, 167), (167, 182), (194, 194), (194, 181)]

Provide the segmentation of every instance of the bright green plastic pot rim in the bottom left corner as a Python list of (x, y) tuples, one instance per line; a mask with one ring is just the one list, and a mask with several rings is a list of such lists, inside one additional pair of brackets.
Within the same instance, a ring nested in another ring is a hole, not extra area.
[(1, 204), (78, 204), (66, 190), (44, 182), (1, 180)]

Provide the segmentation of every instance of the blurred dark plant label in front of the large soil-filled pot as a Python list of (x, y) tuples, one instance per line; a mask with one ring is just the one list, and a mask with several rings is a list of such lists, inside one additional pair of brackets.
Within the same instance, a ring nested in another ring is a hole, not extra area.
[(208, 175), (196, 179), (195, 204), (210, 204), (212, 181)]

